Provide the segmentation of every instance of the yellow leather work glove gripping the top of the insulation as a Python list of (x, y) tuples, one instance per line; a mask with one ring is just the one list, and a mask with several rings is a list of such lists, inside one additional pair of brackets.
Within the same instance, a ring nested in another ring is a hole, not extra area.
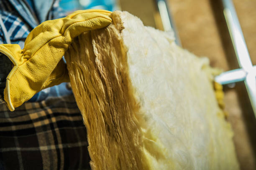
[(106, 10), (79, 10), (38, 25), (26, 38), (23, 50), (17, 44), (0, 45), (0, 52), (14, 64), (4, 90), (8, 108), (13, 111), (40, 90), (68, 82), (67, 67), (61, 58), (72, 39), (82, 32), (108, 26), (110, 14)]

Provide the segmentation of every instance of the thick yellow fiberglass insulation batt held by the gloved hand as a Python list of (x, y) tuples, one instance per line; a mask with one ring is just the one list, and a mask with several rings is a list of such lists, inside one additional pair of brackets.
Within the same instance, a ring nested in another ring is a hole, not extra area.
[(65, 54), (95, 170), (236, 170), (233, 132), (206, 58), (173, 32), (114, 12)]

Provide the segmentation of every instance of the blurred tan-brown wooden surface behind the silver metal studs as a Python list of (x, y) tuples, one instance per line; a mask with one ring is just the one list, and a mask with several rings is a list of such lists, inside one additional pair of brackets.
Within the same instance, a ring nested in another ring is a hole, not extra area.
[[(144, 25), (162, 29), (154, 0), (119, 0), (122, 10), (138, 16)], [(238, 68), (221, 0), (167, 0), (182, 47), (210, 58), (224, 71)], [(233, 0), (253, 65), (256, 65), (256, 0)], [(243, 82), (224, 86), (225, 110), (234, 130), (241, 170), (256, 170), (256, 119)], [(227, 158), (228, 159), (228, 158)]]

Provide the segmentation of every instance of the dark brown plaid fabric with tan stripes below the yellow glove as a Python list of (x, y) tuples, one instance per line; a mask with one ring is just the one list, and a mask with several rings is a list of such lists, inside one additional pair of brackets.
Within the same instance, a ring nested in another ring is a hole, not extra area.
[(90, 169), (87, 134), (74, 96), (0, 104), (0, 170)]

